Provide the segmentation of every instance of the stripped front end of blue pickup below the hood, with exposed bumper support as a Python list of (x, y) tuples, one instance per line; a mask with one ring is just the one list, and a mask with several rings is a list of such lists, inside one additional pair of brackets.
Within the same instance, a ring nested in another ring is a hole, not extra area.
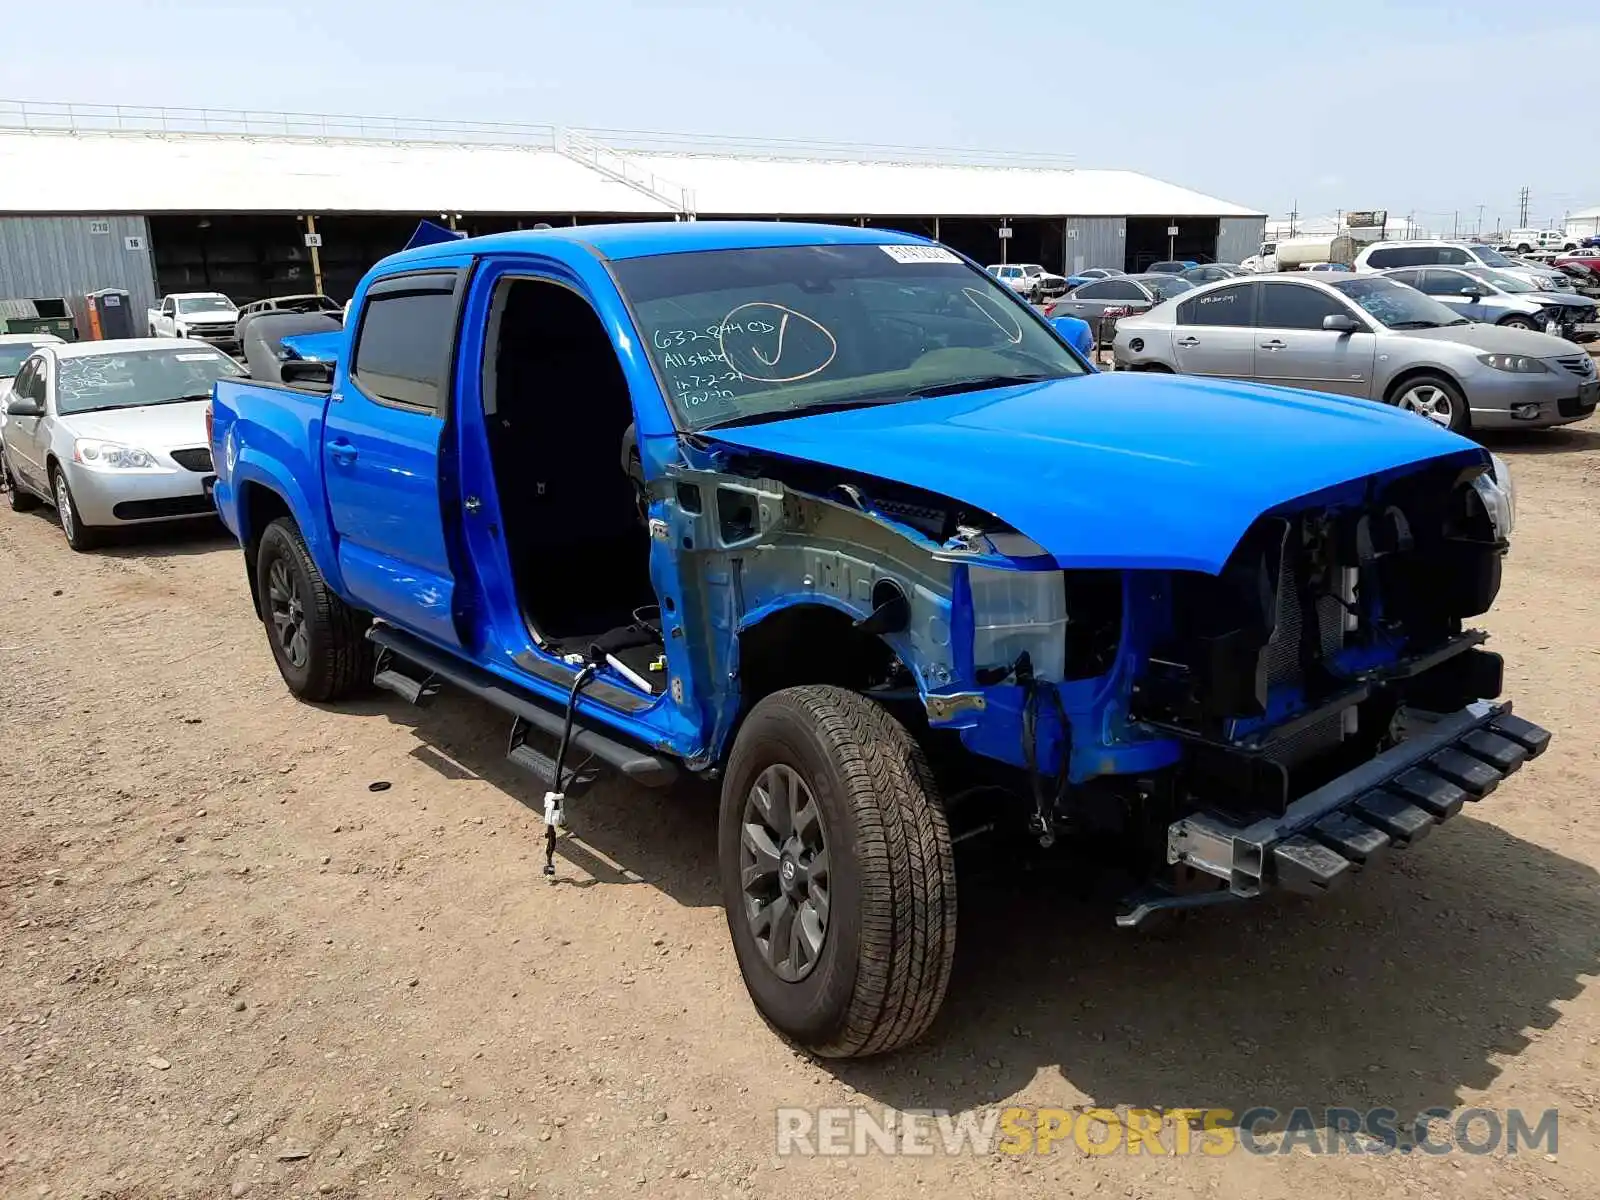
[(771, 690), (851, 686), (958, 747), (946, 795), (987, 797), (990, 824), (1115, 845), (1141, 880), (1125, 925), (1326, 891), (1549, 741), (1469, 624), (1514, 512), (1482, 451), (1274, 504), (1216, 563), (1141, 566), (744, 442), (696, 440), (651, 506), (696, 666), (680, 704), (712, 731), (698, 765)]

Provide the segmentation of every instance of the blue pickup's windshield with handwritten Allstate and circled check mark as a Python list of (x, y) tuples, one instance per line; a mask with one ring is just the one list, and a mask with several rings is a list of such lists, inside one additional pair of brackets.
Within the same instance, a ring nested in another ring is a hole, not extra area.
[(1086, 374), (941, 246), (760, 246), (614, 264), (682, 429)]

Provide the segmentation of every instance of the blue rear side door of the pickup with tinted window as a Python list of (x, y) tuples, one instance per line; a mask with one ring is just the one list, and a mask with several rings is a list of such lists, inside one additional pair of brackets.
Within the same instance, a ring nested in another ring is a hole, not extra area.
[[(328, 397), (322, 467), (350, 597), (459, 645), (440, 450), (453, 390), (464, 269), (373, 282)], [(448, 525), (459, 514), (448, 514)]]

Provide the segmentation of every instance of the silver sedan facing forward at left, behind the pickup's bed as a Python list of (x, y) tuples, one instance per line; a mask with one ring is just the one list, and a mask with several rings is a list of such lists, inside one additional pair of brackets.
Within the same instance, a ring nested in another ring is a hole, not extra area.
[(74, 550), (120, 525), (210, 515), (206, 405), (213, 382), (242, 374), (171, 338), (38, 347), (0, 414), (11, 507), (53, 504)]

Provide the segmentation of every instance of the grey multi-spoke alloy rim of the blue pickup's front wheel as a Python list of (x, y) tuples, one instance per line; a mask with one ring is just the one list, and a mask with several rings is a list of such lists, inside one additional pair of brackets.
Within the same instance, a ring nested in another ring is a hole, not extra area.
[(805, 979), (827, 938), (827, 830), (811, 789), (784, 763), (762, 771), (744, 800), (739, 875), (766, 965), (784, 982)]

